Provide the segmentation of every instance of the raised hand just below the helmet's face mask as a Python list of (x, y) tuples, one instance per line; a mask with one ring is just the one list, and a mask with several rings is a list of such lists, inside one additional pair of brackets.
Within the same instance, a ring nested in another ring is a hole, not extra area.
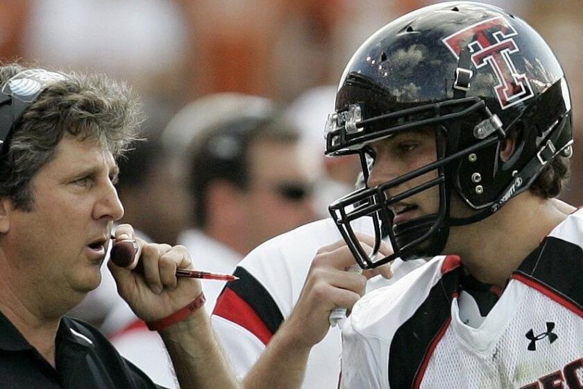
[[(364, 249), (371, 249), (374, 244), (374, 238), (370, 235), (360, 234), (358, 239)], [(379, 251), (385, 256), (393, 252), (385, 242), (382, 242)], [(362, 274), (347, 272), (348, 267), (355, 263), (344, 240), (318, 250), (300, 298), (286, 320), (286, 331), (298, 345), (312, 347), (320, 342), (330, 329), (330, 311), (337, 306), (350, 310), (364, 294), (367, 279), (377, 274), (386, 278), (392, 276), (390, 264), (365, 270)]]

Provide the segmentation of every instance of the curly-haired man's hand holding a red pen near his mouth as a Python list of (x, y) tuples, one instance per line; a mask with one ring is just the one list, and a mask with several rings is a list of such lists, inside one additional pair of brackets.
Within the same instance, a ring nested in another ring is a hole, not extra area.
[[(177, 269), (185, 269), (192, 263), (185, 247), (147, 243), (135, 237), (129, 224), (118, 226), (115, 238), (135, 239), (140, 247), (128, 267), (119, 267), (111, 259), (108, 262), (119, 295), (140, 319), (151, 322), (167, 317), (201, 294), (198, 279), (176, 277)], [(143, 273), (131, 271), (138, 258), (143, 264)]]

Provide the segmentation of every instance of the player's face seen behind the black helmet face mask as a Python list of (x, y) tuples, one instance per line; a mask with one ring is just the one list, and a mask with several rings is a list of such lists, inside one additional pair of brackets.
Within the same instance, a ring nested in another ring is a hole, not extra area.
[[(374, 142), (371, 148), (375, 157), (369, 176), (369, 187), (394, 180), (437, 160), (433, 129), (400, 133), (392, 138)], [(436, 177), (437, 170), (432, 170), (415, 179), (405, 181), (395, 188), (388, 189), (387, 197), (403, 193)], [(434, 186), (423, 190), (391, 205), (390, 208), (395, 215), (394, 224), (435, 214), (439, 210), (439, 189)]]

